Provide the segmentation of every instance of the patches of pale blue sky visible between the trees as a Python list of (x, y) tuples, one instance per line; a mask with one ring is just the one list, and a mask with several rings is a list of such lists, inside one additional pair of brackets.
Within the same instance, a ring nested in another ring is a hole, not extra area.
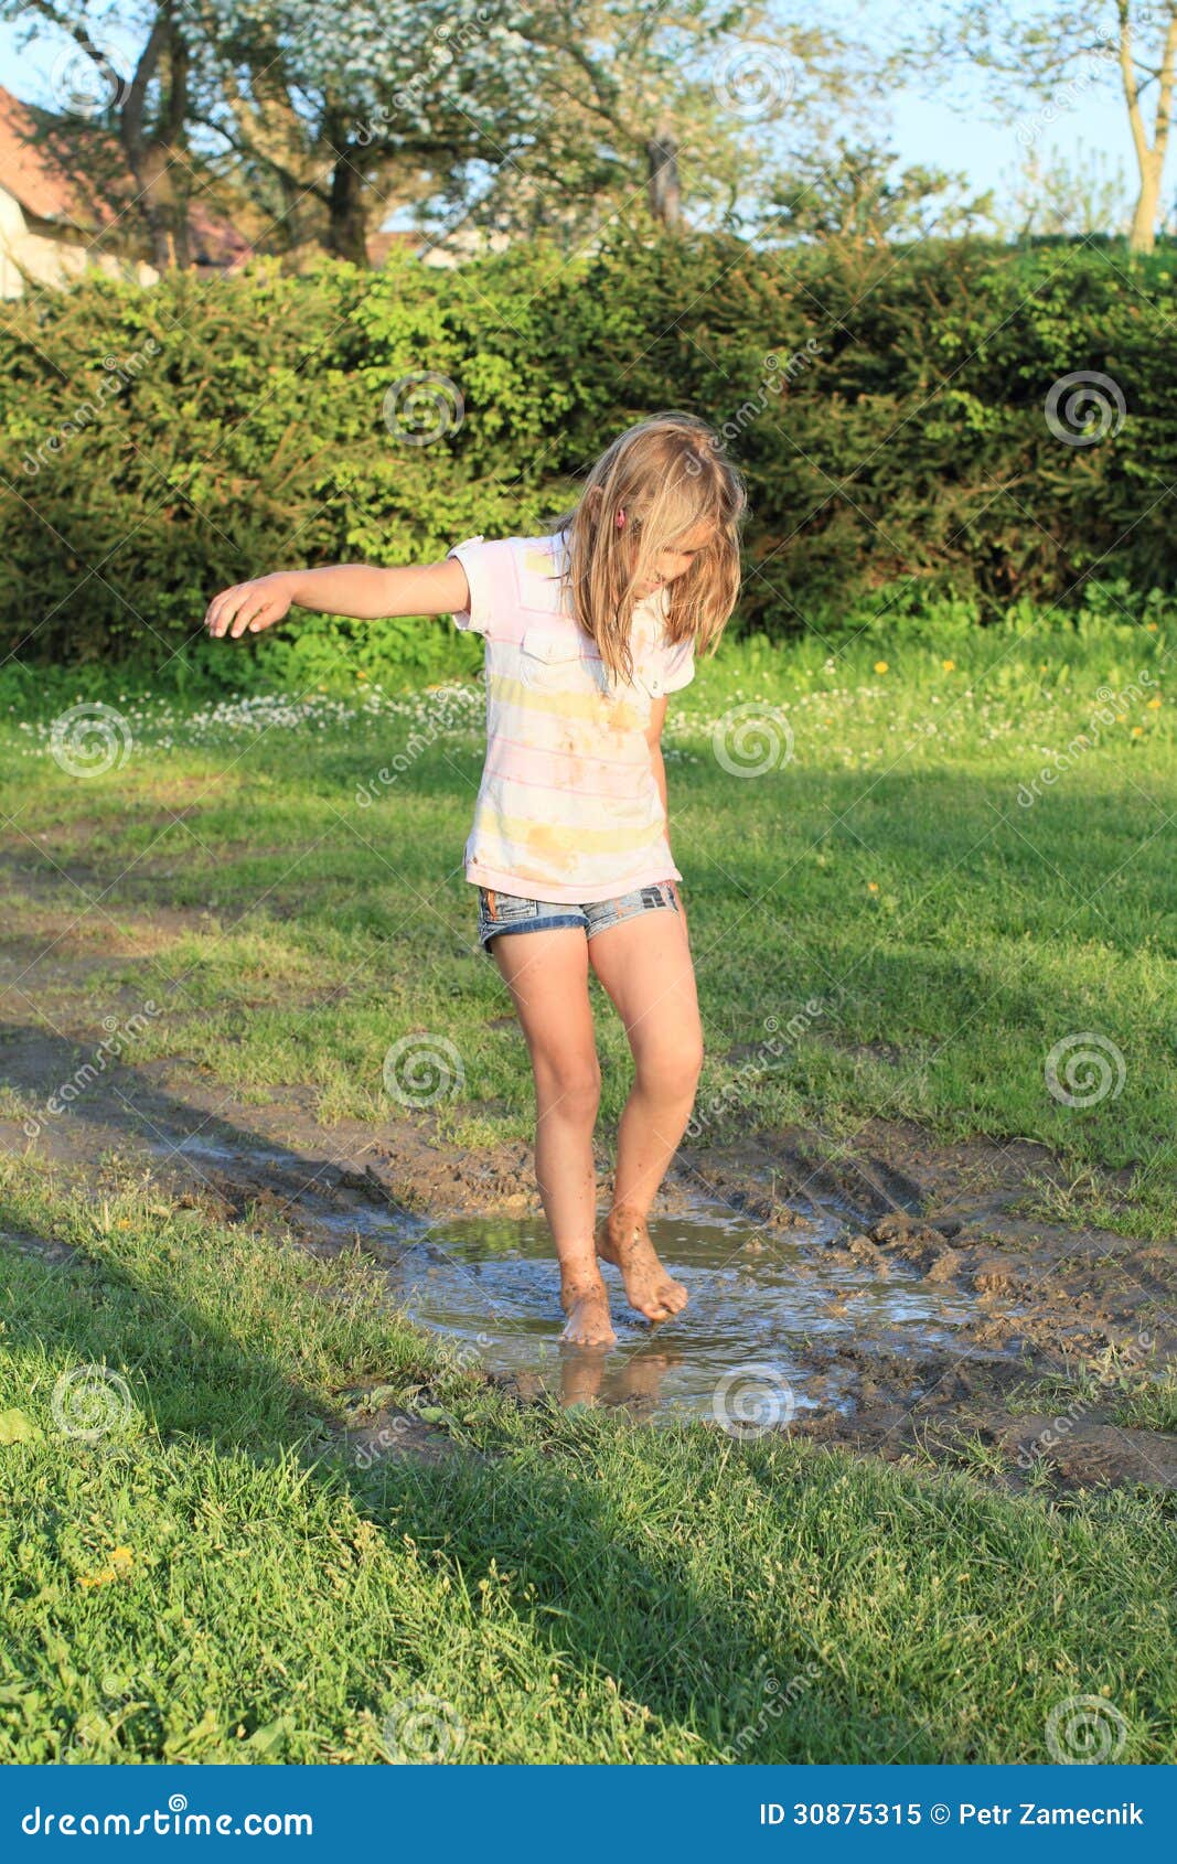
[[(897, 13), (901, 7), (877, 7), (875, 15)], [(0, 24), (0, 84), (28, 103), (54, 104), (54, 65), (63, 41), (48, 35), (19, 50), (19, 28)], [(60, 65), (58, 65), (60, 69)], [(1067, 104), (1065, 95), (1059, 99)], [(1028, 112), (1041, 110), (1041, 99), (1028, 95)], [(1022, 145), (1009, 125), (990, 121), (979, 73), (955, 73), (946, 97), (931, 101), (910, 91), (892, 97), (890, 145), (901, 166), (923, 164), (949, 171), (964, 171), (974, 192), (992, 188), (1000, 201), (1009, 201), (1022, 164)], [(1059, 108), (1058, 117), (1037, 130), (1035, 147), (1043, 158), (1058, 151), (1076, 166), (1091, 166), (1123, 181), (1123, 212), (1129, 211), (1136, 188), (1136, 158), (1129, 134), (1123, 95), (1108, 84), (1082, 91), (1071, 108)], [(1171, 207), (1177, 196), (1173, 170), (1166, 173), (1164, 203)], [(394, 222), (397, 220), (394, 218)]]

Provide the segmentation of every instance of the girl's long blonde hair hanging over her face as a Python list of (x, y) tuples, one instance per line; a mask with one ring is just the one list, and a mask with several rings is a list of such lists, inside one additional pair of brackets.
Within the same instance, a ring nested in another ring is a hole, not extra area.
[[(630, 623), (636, 585), (664, 550), (698, 524), (711, 544), (688, 570), (664, 583), (664, 639), (694, 637), (714, 652), (741, 591), (741, 524), (748, 492), (722, 457), (714, 429), (694, 414), (651, 414), (627, 427), (589, 468), (580, 501), (545, 526), (565, 531), (567, 593), (584, 632), (610, 673), (632, 678)], [(625, 511), (625, 526), (617, 513)], [(630, 569), (630, 544), (636, 559)]]

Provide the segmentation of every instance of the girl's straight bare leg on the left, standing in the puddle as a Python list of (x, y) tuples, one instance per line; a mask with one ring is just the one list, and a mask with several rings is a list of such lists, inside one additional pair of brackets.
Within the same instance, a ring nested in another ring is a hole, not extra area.
[(560, 1256), (561, 1338), (608, 1346), (617, 1335), (597, 1262), (593, 1126), (601, 1064), (588, 997), (588, 947), (576, 926), (500, 932), (491, 953), (511, 992), (535, 1077), (535, 1178)]

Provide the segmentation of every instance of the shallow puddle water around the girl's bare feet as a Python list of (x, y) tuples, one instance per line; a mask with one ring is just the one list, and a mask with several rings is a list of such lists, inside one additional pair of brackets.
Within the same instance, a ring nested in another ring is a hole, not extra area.
[[(653, 1219), (655, 1249), (690, 1301), (649, 1327), (629, 1307), (619, 1271), (602, 1264), (617, 1344), (597, 1351), (560, 1342), (560, 1273), (543, 1221), (455, 1217), (418, 1240), (384, 1232), (381, 1254), (392, 1297), (414, 1322), (444, 1333), (472, 1363), (511, 1374), (524, 1392), (662, 1420), (755, 1422), (776, 1411), (787, 1422), (789, 1405), (845, 1405), (828, 1364), (839, 1340), (944, 1344), (972, 1312), (957, 1290), (929, 1286), (899, 1264), (880, 1279), (823, 1262), (819, 1228), (782, 1240), (727, 1206)], [(830, 1312), (839, 1303), (845, 1309)]]

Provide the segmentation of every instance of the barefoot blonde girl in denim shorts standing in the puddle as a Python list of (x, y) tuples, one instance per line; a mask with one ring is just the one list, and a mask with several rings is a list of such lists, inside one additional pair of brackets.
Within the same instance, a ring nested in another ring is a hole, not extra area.
[[(535, 1176), (560, 1256), (561, 1338), (576, 1346), (617, 1338), (599, 1256), (651, 1323), (686, 1303), (645, 1228), (701, 1066), (660, 733), (666, 695), (735, 608), (744, 511), (714, 431), (657, 414), (614, 440), (580, 501), (537, 537), (470, 537), (408, 569), (278, 570), (224, 589), (205, 615), (233, 639), (291, 604), (364, 621), (453, 615), (483, 636), (487, 761), (464, 872), (532, 1057)], [(597, 1234), (589, 964), (634, 1057)]]

